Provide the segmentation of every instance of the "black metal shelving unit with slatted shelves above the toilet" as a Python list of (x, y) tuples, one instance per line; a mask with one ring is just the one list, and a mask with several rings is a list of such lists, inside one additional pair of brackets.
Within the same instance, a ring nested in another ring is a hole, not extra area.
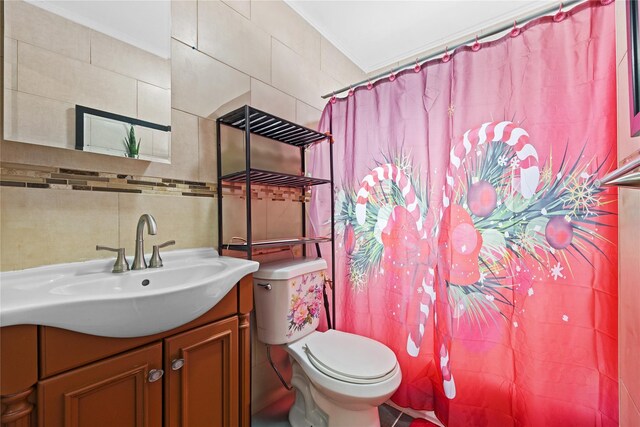
[[(245, 142), (245, 168), (244, 170), (222, 175), (222, 140), (221, 126), (229, 126), (244, 132)], [(305, 176), (305, 153), (304, 150), (311, 144), (329, 138), (328, 135), (300, 126), (296, 123), (281, 119), (272, 114), (260, 111), (249, 105), (231, 111), (216, 120), (217, 131), (217, 165), (218, 165), (218, 252), (222, 254), (224, 249), (244, 251), (247, 259), (252, 258), (253, 250), (259, 248), (284, 247), (292, 245), (302, 245), (302, 253), (306, 255), (306, 245), (315, 244), (318, 256), (320, 253), (320, 243), (331, 243), (331, 279), (335, 277), (335, 265), (333, 254), (335, 253), (335, 230), (334, 230), (334, 203), (331, 203), (331, 237), (330, 238), (309, 238), (307, 237), (306, 226), (306, 203), (305, 191), (314, 185), (330, 185), (333, 189), (333, 145), (329, 146), (330, 156), (330, 177), (329, 179), (312, 178)], [(260, 135), (273, 141), (288, 144), (300, 149), (300, 170), (302, 175), (292, 175), (277, 171), (266, 171), (251, 167), (251, 135)], [(246, 186), (246, 219), (247, 219), (247, 239), (246, 242), (224, 242), (222, 230), (222, 183), (243, 183)], [(280, 239), (253, 240), (251, 234), (251, 185), (271, 185), (278, 187), (297, 188), (301, 191), (302, 198), (302, 237), (283, 237)], [(335, 319), (335, 295), (332, 292), (331, 318)]]

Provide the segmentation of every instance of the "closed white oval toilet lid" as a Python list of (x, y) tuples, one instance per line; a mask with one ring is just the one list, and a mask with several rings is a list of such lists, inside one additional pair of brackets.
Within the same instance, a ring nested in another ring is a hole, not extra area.
[(304, 350), (311, 364), (341, 381), (381, 382), (393, 374), (398, 363), (389, 347), (370, 338), (332, 329), (308, 338)]

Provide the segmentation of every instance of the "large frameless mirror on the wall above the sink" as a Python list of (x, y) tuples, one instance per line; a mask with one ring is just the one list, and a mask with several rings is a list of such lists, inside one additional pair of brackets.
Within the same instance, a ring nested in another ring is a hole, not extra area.
[(3, 3), (5, 139), (170, 163), (171, 2)]

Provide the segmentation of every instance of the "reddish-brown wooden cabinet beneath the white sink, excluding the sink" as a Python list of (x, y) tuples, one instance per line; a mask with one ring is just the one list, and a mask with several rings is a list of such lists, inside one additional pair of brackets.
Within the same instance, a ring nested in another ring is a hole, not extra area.
[(148, 337), (0, 328), (1, 427), (249, 427), (252, 290)]

